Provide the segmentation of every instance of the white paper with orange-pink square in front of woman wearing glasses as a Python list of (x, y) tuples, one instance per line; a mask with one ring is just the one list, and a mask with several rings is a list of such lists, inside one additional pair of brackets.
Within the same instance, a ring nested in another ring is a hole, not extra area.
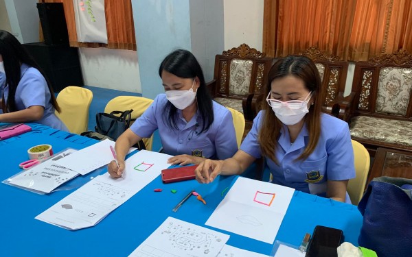
[(240, 177), (206, 225), (272, 244), (294, 191)]

